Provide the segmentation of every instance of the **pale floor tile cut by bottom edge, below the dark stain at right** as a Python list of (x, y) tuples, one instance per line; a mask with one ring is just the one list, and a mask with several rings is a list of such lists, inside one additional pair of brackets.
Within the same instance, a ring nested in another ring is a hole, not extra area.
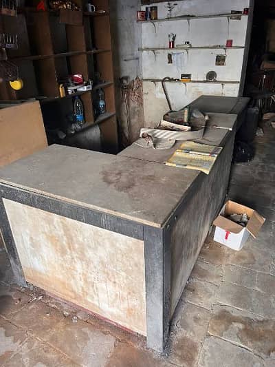
[(263, 359), (253, 353), (225, 342), (217, 337), (208, 337), (203, 344), (199, 367), (263, 367)]

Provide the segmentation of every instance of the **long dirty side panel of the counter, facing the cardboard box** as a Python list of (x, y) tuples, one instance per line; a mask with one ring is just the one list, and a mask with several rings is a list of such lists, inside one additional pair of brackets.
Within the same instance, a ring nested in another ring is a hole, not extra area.
[(188, 191), (182, 212), (171, 232), (171, 308), (172, 317), (210, 225), (228, 188), (234, 132), (228, 136), (210, 174), (201, 174)]

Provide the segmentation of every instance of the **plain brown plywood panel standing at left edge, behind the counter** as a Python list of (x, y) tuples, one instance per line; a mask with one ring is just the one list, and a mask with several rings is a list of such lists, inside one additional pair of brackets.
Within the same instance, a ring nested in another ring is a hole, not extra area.
[(0, 110), (0, 166), (47, 147), (39, 102)]

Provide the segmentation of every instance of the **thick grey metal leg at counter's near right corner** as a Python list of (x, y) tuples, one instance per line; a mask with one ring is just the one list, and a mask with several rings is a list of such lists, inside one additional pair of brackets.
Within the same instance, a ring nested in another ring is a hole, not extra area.
[(165, 348), (170, 323), (170, 240), (164, 229), (144, 227), (147, 346)]

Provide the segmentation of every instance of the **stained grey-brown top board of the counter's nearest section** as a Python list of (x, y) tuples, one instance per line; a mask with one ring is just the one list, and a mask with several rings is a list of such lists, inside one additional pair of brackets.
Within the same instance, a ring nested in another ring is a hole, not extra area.
[(162, 227), (198, 175), (63, 145), (0, 169), (3, 183), (154, 227)]

